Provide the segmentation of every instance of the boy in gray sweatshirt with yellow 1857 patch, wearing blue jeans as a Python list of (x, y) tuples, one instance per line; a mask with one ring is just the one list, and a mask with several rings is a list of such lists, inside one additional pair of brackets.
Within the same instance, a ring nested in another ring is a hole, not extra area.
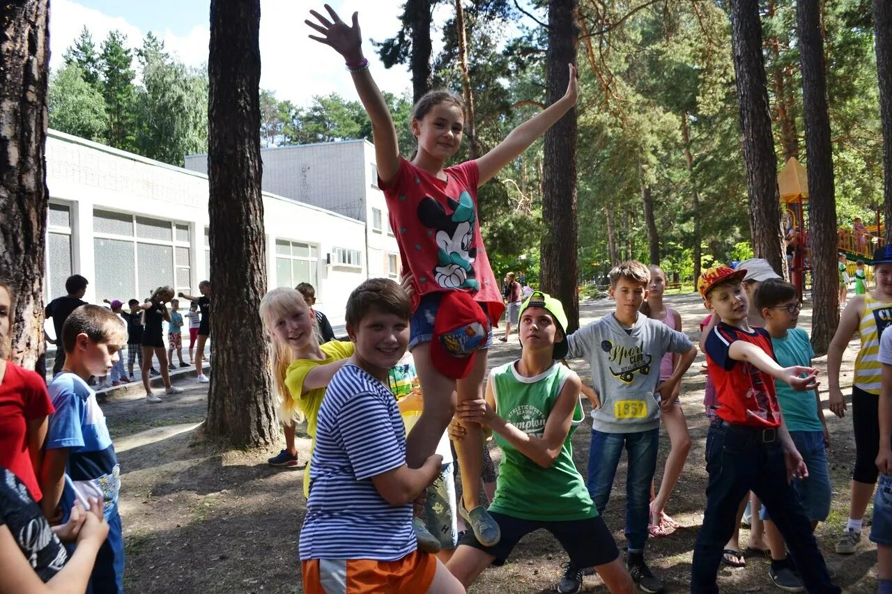
[[(663, 583), (644, 563), (648, 538), (650, 483), (657, 469), (661, 407), (697, 356), (688, 337), (639, 313), (648, 296), (648, 267), (631, 260), (610, 271), (615, 311), (567, 337), (567, 359), (586, 359), (599, 407), (591, 411), (589, 482), (591, 499), (603, 514), (616, 466), (628, 451), (625, 537), (632, 579), (645, 592), (660, 592)], [(659, 382), (660, 361), (667, 352), (681, 353), (673, 375)], [(665, 395), (662, 397), (661, 394)]]

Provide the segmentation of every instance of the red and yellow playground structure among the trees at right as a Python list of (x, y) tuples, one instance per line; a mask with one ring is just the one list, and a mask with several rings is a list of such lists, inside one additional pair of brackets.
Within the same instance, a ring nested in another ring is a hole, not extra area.
[[(784, 245), (787, 252), (790, 281), (800, 295), (805, 289), (805, 277), (811, 272), (811, 228), (808, 217), (808, 176), (805, 167), (790, 157), (778, 175), (780, 205), (783, 209)], [(873, 252), (883, 245), (883, 225), (879, 207), (875, 209), (873, 225), (863, 228), (838, 227), (837, 252), (845, 254), (849, 274), (854, 273), (855, 262), (863, 260), (870, 266)]]

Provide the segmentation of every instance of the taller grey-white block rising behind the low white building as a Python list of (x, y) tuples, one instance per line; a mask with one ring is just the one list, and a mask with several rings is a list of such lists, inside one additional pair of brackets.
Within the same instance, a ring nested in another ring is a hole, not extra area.
[[(378, 189), (375, 146), (368, 140), (261, 149), (263, 190), (332, 210), (365, 224), (368, 275), (395, 278), (400, 250)], [(186, 169), (207, 173), (208, 156), (186, 156)]]

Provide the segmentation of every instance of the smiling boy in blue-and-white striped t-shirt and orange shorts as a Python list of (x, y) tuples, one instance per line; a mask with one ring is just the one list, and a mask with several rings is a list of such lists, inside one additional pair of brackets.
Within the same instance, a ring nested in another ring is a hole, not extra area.
[(319, 408), (310, 499), (301, 528), (303, 590), (464, 592), (434, 555), (417, 550), (412, 501), (440, 474), (442, 457), (406, 465), (406, 438), (387, 374), (409, 343), (409, 298), (373, 278), (347, 301), (353, 356)]

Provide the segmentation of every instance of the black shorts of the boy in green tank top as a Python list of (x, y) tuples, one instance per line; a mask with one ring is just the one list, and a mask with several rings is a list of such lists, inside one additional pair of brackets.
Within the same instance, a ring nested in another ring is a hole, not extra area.
[(484, 547), (474, 536), (473, 530), (465, 532), (458, 543), (480, 549), (496, 557), (496, 563), (505, 563), (511, 550), (530, 532), (543, 529), (551, 532), (561, 547), (570, 556), (570, 561), (577, 567), (589, 568), (605, 565), (619, 557), (616, 541), (607, 530), (604, 518), (590, 517), (584, 520), (565, 520), (545, 522), (541, 520), (523, 520), (519, 517), (506, 516), (499, 512), (490, 512), (490, 516), (499, 523), (501, 540), (494, 547)]

